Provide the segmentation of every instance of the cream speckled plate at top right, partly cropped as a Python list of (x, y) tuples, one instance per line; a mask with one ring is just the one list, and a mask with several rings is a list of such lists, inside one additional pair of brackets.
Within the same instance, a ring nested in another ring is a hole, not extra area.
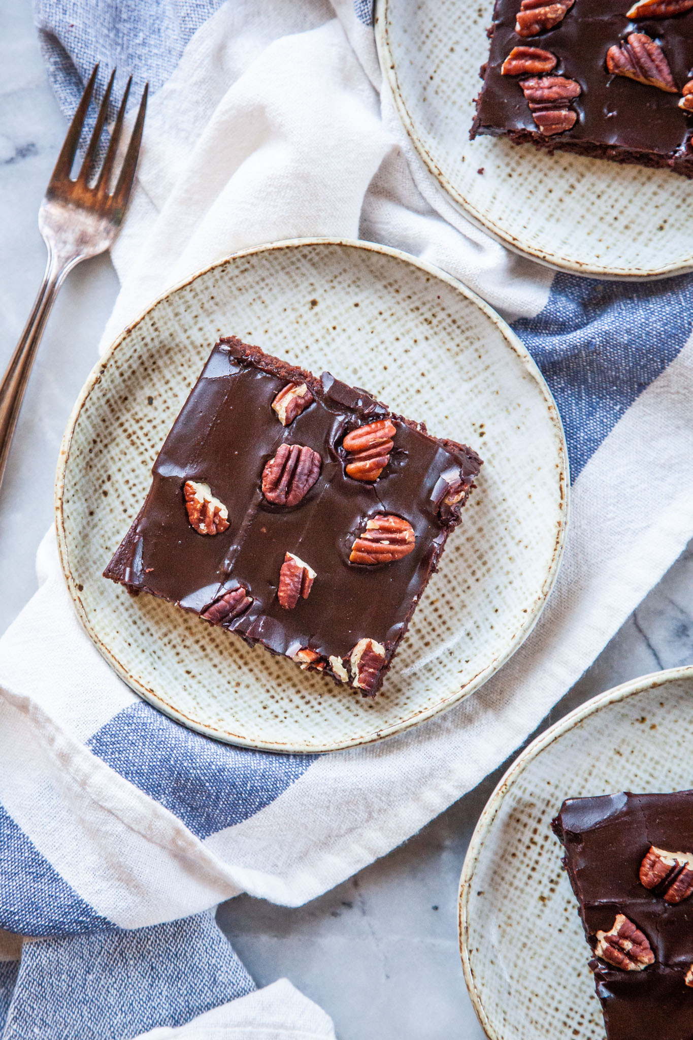
[(500, 138), (470, 140), (492, 12), (492, 0), (378, 0), (385, 83), (431, 175), (467, 216), (552, 266), (607, 278), (693, 268), (686, 178)]

